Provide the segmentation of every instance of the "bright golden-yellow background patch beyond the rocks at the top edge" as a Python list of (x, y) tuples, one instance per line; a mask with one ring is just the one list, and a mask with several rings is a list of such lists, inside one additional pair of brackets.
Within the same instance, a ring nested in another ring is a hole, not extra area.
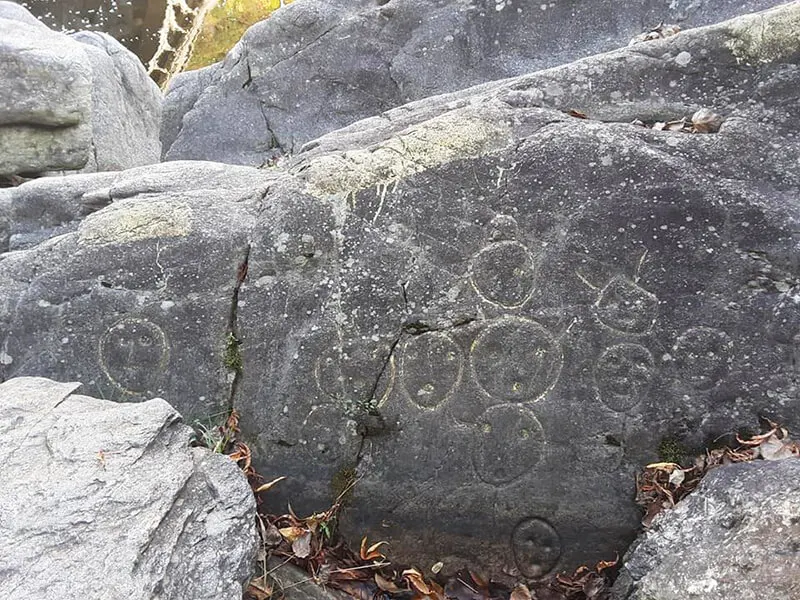
[[(291, 0), (284, 0), (289, 4)], [(280, 0), (227, 0), (206, 15), (185, 70), (206, 67), (225, 58), (247, 29), (280, 8)]]

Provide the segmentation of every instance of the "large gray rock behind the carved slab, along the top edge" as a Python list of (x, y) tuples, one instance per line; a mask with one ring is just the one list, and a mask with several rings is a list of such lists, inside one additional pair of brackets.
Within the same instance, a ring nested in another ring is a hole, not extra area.
[(205, 71), (175, 81), (164, 156), (258, 166), (273, 148), (296, 152), (412, 100), (622, 46), (659, 22), (696, 27), (778, 3), (298, 0), (252, 27), (211, 83)]

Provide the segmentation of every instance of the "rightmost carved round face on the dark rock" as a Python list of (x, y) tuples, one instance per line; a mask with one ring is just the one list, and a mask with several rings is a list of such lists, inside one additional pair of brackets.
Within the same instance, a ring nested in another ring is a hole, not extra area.
[(719, 329), (692, 327), (678, 337), (672, 354), (685, 380), (698, 390), (707, 390), (728, 372), (733, 342)]

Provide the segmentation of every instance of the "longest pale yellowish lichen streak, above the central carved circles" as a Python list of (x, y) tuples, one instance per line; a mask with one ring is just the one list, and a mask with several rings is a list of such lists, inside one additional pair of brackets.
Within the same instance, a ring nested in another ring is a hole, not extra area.
[(477, 110), (445, 113), (364, 150), (328, 154), (302, 165), (309, 193), (354, 194), (458, 160), (482, 156), (510, 141), (510, 127)]

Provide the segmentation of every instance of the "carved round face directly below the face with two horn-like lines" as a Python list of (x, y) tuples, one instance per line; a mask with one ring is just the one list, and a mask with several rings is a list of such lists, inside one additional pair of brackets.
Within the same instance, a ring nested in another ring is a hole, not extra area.
[(611, 410), (624, 412), (645, 397), (655, 373), (653, 355), (639, 344), (617, 344), (597, 361), (594, 378), (600, 400)]

